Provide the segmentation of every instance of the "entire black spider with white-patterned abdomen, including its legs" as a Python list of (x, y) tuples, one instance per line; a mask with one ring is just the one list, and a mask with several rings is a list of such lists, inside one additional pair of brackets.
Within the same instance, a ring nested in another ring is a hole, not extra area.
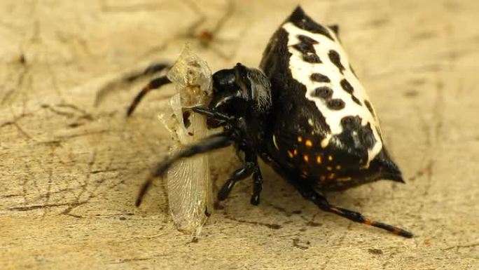
[[(146, 73), (155, 67), (165, 66), (150, 67)], [(338, 27), (319, 25), (296, 8), (273, 34), (260, 67), (237, 64), (213, 75), (209, 106), (194, 107), (193, 112), (207, 116), (209, 127), (223, 131), (165, 158), (141, 189), (137, 205), (153, 179), (179, 158), (232, 144), (244, 152), (244, 163), (220, 189), (219, 200), (235, 182), (252, 175), (251, 203), (259, 203), (259, 157), (321, 210), (412, 237), (398, 227), (335, 207), (319, 194), (381, 179), (403, 182), (384, 147), (376, 112), (342, 49)], [(164, 76), (151, 81), (128, 115), (145, 93), (166, 83)]]

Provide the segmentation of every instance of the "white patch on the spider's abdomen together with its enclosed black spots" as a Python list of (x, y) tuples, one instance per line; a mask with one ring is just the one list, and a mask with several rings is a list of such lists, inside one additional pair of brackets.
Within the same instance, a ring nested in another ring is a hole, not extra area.
[[(343, 119), (359, 118), (361, 126), (370, 127), (372, 136), (367, 142), (365, 166), (369, 166), (382, 149), (380, 127), (338, 37), (328, 27), (324, 27), (328, 35), (308, 32), (293, 22), (286, 22), (282, 27), (288, 33), (291, 76), (306, 87), (305, 97), (316, 104), (331, 130), (321, 141), (321, 147), (326, 147), (334, 135), (343, 133), (342, 121), (347, 121)], [(358, 137), (357, 131), (352, 131), (352, 137)], [(358, 137), (357, 144), (361, 143), (360, 139)]]

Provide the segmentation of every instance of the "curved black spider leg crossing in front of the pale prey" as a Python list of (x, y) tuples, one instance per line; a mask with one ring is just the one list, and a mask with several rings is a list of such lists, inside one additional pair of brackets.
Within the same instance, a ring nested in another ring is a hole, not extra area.
[(195, 144), (190, 144), (184, 149), (181, 149), (179, 153), (173, 156), (168, 156), (167, 158), (165, 158), (164, 161), (162, 161), (158, 164), (158, 166), (156, 166), (155, 170), (153, 170), (153, 173), (144, 182), (143, 186), (139, 191), (135, 204), (137, 206), (141, 204), (141, 201), (143, 200), (146, 191), (148, 191), (148, 188), (151, 186), (151, 183), (153, 183), (153, 180), (155, 180), (156, 177), (161, 177), (162, 175), (164, 175), (167, 169), (179, 159), (195, 156), (196, 154), (206, 153), (214, 149), (228, 147), (230, 144), (232, 144), (232, 142), (233, 140), (230, 133), (218, 133), (209, 137), (205, 137), (204, 139), (200, 140), (200, 142), (197, 142)]

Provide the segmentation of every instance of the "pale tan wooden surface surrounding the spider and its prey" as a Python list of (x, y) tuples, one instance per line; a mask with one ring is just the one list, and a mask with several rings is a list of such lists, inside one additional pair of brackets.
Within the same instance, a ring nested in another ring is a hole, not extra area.
[[(93, 103), (105, 83), (174, 60), (185, 41), (212, 69), (257, 66), (298, 4), (237, 0), (227, 14), (228, 1), (197, 2), (0, 1), (0, 269), (479, 269), (478, 1), (303, 1), (340, 24), (408, 182), (328, 197), (415, 238), (319, 212), (264, 168), (261, 205), (238, 184), (190, 243), (161, 182), (133, 205), (169, 144), (156, 116), (172, 90), (128, 120), (141, 83)], [(223, 15), (207, 48), (188, 34)], [(237, 161), (231, 149), (214, 157), (218, 186)]]

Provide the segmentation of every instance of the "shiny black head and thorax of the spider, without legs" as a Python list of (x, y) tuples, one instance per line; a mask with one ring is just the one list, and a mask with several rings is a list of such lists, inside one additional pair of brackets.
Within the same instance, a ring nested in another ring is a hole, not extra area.
[[(259, 69), (238, 63), (232, 69), (221, 69), (213, 74), (213, 99), (210, 109), (229, 116), (261, 116), (271, 107), (270, 81)], [(209, 122), (209, 126), (215, 127)]]

